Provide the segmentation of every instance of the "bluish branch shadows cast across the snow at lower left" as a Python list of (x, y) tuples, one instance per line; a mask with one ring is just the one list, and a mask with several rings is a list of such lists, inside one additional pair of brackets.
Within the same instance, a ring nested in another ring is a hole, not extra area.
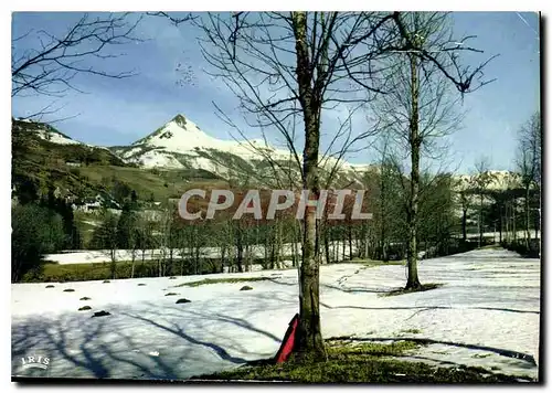
[[(192, 376), (198, 373), (198, 370), (201, 372), (220, 371), (225, 362), (247, 363), (247, 359), (231, 354), (229, 350), (232, 348), (238, 353), (247, 353), (242, 346), (246, 346), (251, 340), (247, 340), (247, 336), (243, 340), (224, 337), (224, 329), (219, 329), (217, 326), (221, 322), (237, 326), (244, 330), (245, 334), (254, 332), (266, 337), (274, 342), (275, 348), (280, 342), (277, 336), (255, 327), (244, 318), (170, 307), (163, 307), (153, 314), (151, 310), (152, 308), (149, 307), (147, 312), (126, 312), (115, 307), (110, 309), (112, 316), (103, 318), (91, 318), (89, 314), (64, 314), (53, 318), (32, 317), (17, 321), (12, 325), (12, 358), (14, 359), (12, 375), (40, 376), (31, 375), (21, 369), (21, 358), (28, 355), (49, 357), (51, 364), (47, 376), (56, 378), (176, 380)], [(142, 323), (128, 323), (129, 318)], [(214, 327), (219, 330), (212, 333), (213, 341), (222, 337), (224, 348), (210, 342), (211, 340), (205, 340), (205, 334), (202, 334), (200, 339), (188, 329), (184, 330), (189, 326), (194, 326), (194, 331), (198, 329), (202, 331), (213, 326), (213, 322), (217, 323)], [(178, 339), (174, 341), (174, 338), (167, 337), (167, 333)], [(151, 337), (152, 342), (145, 343), (144, 334)], [(182, 343), (181, 348), (178, 347), (179, 342)], [(140, 346), (153, 348), (177, 346), (177, 350), (171, 350), (160, 357), (148, 353)], [(208, 353), (202, 349), (206, 349)], [(209, 352), (220, 360), (214, 360), (214, 362), (209, 360)]]

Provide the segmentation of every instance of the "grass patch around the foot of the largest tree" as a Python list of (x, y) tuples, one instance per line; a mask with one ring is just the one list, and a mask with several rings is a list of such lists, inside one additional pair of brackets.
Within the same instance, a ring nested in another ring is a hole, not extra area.
[(517, 382), (518, 378), (496, 374), (481, 368), (437, 368), (393, 357), (407, 354), (420, 344), (412, 341), (393, 343), (343, 344), (327, 341), (327, 360), (295, 355), (283, 364), (237, 368), (201, 380), (288, 381), (296, 383), (489, 383)]

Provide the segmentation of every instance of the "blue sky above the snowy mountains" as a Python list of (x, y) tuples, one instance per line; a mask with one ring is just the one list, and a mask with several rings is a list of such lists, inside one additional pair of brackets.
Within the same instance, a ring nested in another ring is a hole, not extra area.
[[(79, 13), (13, 13), (12, 33), (20, 36), (30, 29), (63, 33)], [(481, 155), (491, 159), (493, 169), (513, 169), (516, 131), (539, 108), (538, 15), (516, 12), (455, 12), (458, 35), (477, 35), (473, 45), (485, 55), (499, 54), (485, 73), (492, 84), (466, 95), (463, 126), (452, 136), (450, 158), (460, 172), (473, 169)], [(206, 66), (190, 26), (176, 28), (162, 18), (146, 17), (136, 34), (148, 39), (117, 47), (125, 56), (103, 62), (102, 67), (134, 70), (126, 79), (79, 75), (74, 84), (85, 94), (70, 93), (54, 98), (62, 107), (45, 120), (68, 118), (55, 126), (74, 139), (96, 145), (129, 145), (152, 132), (177, 114), (183, 114), (208, 134), (231, 139), (235, 131), (215, 115), (213, 102), (238, 119), (235, 97), (221, 81), (203, 73)], [(21, 50), (33, 42), (19, 42)], [(482, 57), (478, 57), (480, 61)], [(468, 63), (473, 61), (467, 59)], [(193, 84), (179, 85), (178, 64), (193, 68)], [(34, 113), (52, 102), (51, 97), (30, 96), (12, 99), (13, 116)], [(258, 131), (247, 135), (258, 137)], [(371, 162), (375, 152), (351, 157), (352, 162)]]

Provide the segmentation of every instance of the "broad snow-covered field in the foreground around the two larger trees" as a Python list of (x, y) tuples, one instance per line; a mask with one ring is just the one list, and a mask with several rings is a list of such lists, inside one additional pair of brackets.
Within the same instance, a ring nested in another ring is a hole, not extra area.
[[(244, 283), (174, 287), (217, 277), (269, 279), (246, 291)], [(420, 277), (444, 286), (382, 297), (405, 284), (403, 266), (321, 266), (325, 338), (426, 338), (434, 343), (406, 359), (537, 378), (539, 259), (475, 251), (423, 261)], [(13, 375), (188, 379), (274, 355), (298, 310), (294, 269), (45, 287), (12, 285)], [(77, 311), (84, 305), (92, 310)], [(91, 318), (98, 310), (110, 315)], [(47, 370), (22, 369), (29, 355), (47, 357)]]

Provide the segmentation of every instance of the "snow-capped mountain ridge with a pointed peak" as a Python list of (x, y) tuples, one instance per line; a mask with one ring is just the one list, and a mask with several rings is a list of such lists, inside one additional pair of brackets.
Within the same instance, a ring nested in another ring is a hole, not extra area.
[[(229, 180), (240, 172), (253, 179), (270, 177), (274, 171), (269, 160), (289, 162), (290, 151), (276, 149), (262, 139), (223, 140), (203, 131), (195, 123), (183, 114), (177, 114), (169, 121), (151, 134), (137, 139), (127, 146), (100, 147), (72, 139), (52, 126), (28, 119), (14, 119), (19, 124), (34, 126), (34, 132), (42, 139), (57, 145), (79, 145), (110, 151), (123, 162), (145, 169), (163, 170), (203, 170), (215, 177)], [(322, 164), (327, 171), (336, 163), (336, 159), (328, 158)], [(350, 163), (342, 161), (340, 172), (344, 177), (358, 181), (363, 172), (378, 170), (376, 164)], [(327, 168), (326, 168), (327, 167)], [(490, 189), (505, 189), (509, 183), (518, 182), (510, 171), (489, 171)], [(296, 171), (294, 177), (299, 173)], [(459, 188), (467, 187), (474, 174), (454, 174)], [(464, 184), (464, 185), (463, 185)]]

